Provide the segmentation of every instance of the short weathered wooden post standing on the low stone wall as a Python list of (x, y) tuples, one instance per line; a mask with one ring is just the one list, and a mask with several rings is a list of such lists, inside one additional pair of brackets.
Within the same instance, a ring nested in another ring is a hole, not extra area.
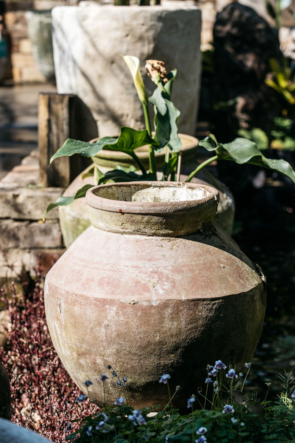
[(40, 185), (67, 187), (91, 160), (81, 155), (50, 158), (68, 138), (89, 141), (97, 137), (97, 125), (84, 103), (72, 94), (40, 93), (38, 148)]

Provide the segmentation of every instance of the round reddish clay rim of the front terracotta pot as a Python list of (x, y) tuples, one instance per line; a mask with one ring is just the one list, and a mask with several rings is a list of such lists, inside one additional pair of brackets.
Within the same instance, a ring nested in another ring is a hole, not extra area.
[[(130, 187), (138, 186), (138, 190), (149, 187), (187, 187), (189, 189), (204, 189), (209, 192), (209, 195), (199, 198), (197, 200), (175, 200), (164, 202), (130, 202), (123, 200), (112, 200), (105, 197), (100, 197), (97, 193), (100, 190), (105, 190), (111, 187)], [(138, 182), (120, 182), (107, 183), (104, 185), (94, 186), (86, 192), (86, 201), (88, 206), (97, 210), (108, 212), (116, 212), (121, 214), (165, 214), (184, 212), (193, 208), (200, 208), (206, 205), (207, 202), (215, 200), (216, 209), (219, 202), (219, 192), (217, 189), (199, 183), (182, 183), (182, 182), (157, 182), (157, 181), (138, 181)]]

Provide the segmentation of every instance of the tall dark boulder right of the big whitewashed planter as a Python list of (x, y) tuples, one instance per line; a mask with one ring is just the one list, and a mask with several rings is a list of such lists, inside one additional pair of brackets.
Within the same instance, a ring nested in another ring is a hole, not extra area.
[(280, 95), (264, 83), (269, 59), (282, 55), (277, 31), (252, 8), (231, 3), (217, 14), (213, 36), (212, 101), (219, 104), (214, 118), (218, 140), (233, 140), (239, 128), (258, 127), (269, 133), (283, 107)]

